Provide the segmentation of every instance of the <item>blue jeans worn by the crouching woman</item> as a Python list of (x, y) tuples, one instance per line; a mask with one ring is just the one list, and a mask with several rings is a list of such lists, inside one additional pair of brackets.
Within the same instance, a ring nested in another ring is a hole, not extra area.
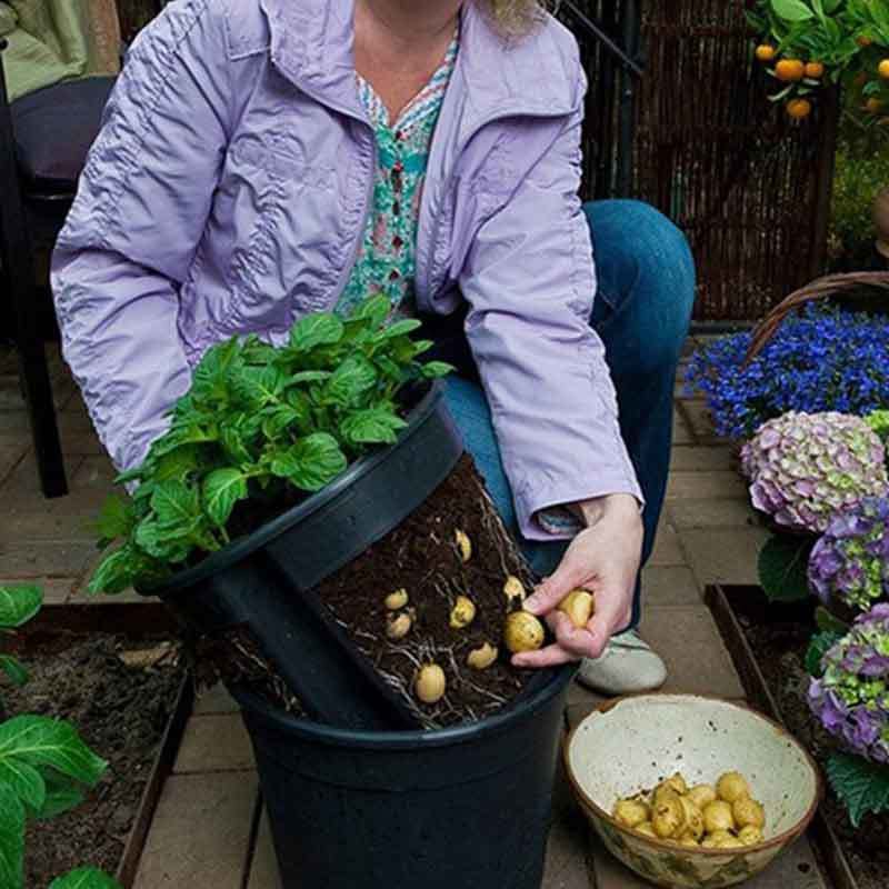
[[(617, 389), (620, 428), (646, 498), (642, 565), (655, 546), (672, 444), (673, 383), (695, 300), (695, 262), (685, 236), (638, 201), (587, 203), (599, 289), (590, 323), (606, 347)], [(448, 406), (500, 515), (541, 576), (559, 563), (565, 541), (531, 542), (518, 531), (482, 389), (467, 379), (448, 383)], [(631, 627), (639, 622), (637, 580)]]

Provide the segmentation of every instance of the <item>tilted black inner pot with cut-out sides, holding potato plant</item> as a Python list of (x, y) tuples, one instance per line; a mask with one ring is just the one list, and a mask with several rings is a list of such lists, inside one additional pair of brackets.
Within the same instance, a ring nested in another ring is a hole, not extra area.
[(158, 596), (202, 633), (246, 627), (262, 653), (321, 722), (363, 729), (418, 728), (404, 702), (310, 593), (398, 527), (448, 477), (463, 452), (433, 384), (389, 448), (254, 533), (160, 588)]

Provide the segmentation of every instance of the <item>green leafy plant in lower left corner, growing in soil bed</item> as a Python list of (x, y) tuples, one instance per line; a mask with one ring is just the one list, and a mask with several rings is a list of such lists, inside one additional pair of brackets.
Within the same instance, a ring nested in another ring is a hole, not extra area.
[[(40, 610), (38, 587), (0, 587), (0, 633), (11, 635)], [(28, 673), (18, 660), (0, 655), (0, 668), (16, 685)], [(0, 713), (2, 708), (0, 707)], [(0, 716), (0, 887), (24, 886), (24, 830), (31, 819), (52, 818), (83, 800), (108, 763), (83, 743), (68, 722), (41, 716)], [(94, 868), (53, 880), (50, 889), (120, 889)]]

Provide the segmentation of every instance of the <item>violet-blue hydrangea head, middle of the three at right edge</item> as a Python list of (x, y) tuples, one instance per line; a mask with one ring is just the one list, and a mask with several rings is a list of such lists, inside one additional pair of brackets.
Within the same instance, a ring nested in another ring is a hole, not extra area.
[(861, 611), (889, 592), (889, 499), (867, 498), (830, 522), (809, 557), (809, 586), (825, 605)]

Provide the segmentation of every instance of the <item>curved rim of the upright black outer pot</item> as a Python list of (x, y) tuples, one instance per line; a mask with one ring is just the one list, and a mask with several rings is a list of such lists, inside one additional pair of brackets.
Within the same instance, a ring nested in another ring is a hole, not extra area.
[(368, 731), (367, 729), (346, 729), (298, 719), (268, 705), (259, 695), (243, 687), (231, 688), (232, 697), (241, 705), (249, 706), (251, 715), (267, 728), (284, 735), (313, 740), (329, 747), (358, 748), (366, 750), (407, 750), (450, 747), (510, 730), (520, 719), (530, 719), (553, 697), (559, 695), (573, 679), (577, 663), (566, 663), (552, 669), (551, 679), (530, 698), (519, 701), (515, 707), (507, 706), (500, 712), (478, 722), (455, 726), (447, 729), (413, 731)]

